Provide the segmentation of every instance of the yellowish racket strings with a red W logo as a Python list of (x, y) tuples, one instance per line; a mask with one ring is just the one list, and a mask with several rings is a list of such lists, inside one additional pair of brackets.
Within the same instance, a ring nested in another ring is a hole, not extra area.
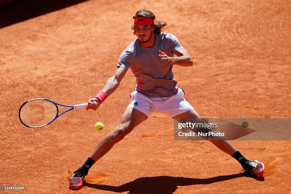
[(56, 118), (57, 106), (43, 99), (27, 102), (20, 110), (20, 119), (30, 127), (46, 125)]

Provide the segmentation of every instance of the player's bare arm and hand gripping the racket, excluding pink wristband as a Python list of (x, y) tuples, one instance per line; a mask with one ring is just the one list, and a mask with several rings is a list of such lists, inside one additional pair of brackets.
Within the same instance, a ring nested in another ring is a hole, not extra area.
[[(119, 83), (125, 76), (126, 72), (127, 70), (124, 68), (118, 67), (114, 75), (105, 82), (101, 91), (105, 92), (107, 96), (111, 95), (118, 88)], [(92, 109), (96, 111), (100, 104), (101, 103), (97, 98), (89, 99), (86, 110)]]

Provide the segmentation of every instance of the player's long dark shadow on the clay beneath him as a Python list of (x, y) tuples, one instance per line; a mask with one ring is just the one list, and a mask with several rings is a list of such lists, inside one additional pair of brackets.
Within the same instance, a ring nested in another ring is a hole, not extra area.
[[(159, 176), (159, 177), (141, 177), (135, 179), (131, 182), (125, 183), (120, 186), (109, 186), (109, 185), (99, 185), (86, 183), (84, 186), (91, 188), (96, 188), (103, 191), (113, 191), (117, 193), (122, 193), (129, 191), (134, 194), (171, 194), (176, 191), (177, 186), (189, 186), (196, 184), (212, 184), (215, 182), (226, 181), (230, 179), (235, 179), (242, 177), (242, 174), (235, 175), (223, 175), (207, 179), (195, 179), (195, 178), (185, 178), (185, 177), (169, 177), (169, 176)], [(258, 181), (264, 181), (264, 178), (255, 178)]]

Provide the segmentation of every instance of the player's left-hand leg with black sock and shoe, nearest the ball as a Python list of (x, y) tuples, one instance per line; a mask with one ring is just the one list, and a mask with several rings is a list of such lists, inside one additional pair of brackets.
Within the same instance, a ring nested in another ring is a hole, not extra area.
[(89, 168), (91, 168), (95, 161), (104, 156), (104, 154), (106, 154), (114, 144), (122, 140), (132, 131), (132, 129), (134, 129), (134, 127), (138, 126), (147, 118), (148, 117), (144, 113), (134, 108), (127, 108), (118, 126), (100, 140), (84, 165), (74, 172), (74, 175), (69, 181), (70, 187), (72, 189), (81, 188), (83, 186), (83, 182), (86, 180), (86, 175)]

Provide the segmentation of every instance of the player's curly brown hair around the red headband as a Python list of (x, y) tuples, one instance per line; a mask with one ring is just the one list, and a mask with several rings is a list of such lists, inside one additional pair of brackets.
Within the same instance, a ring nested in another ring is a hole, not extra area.
[[(167, 22), (162, 21), (161, 19), (156, 19), (156, 16), (149, 10), (139, 10), (134, 15), (133, 19), (136, 17), (148, 17), (154, 19), (154, 24), (152, 26), (155, 27), (154, 33), (159, 34), (163, 31), (163, 28), (167, 25)], [(132, 24), (131, 29), (134, 31), (133, 34), (136, 35), (135, 26)]]

